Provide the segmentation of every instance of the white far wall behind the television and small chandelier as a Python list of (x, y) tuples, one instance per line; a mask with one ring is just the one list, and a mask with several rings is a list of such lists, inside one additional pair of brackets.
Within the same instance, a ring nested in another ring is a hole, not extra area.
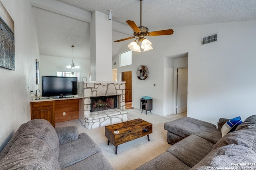
[[(75, 59), (74, 64), (80, 66), (78, 69), (68, 69), (67, 65), (72, 64), (72, 57), (55, 57), (40, 55), (40, 84), (38, 89), (42, 91), (42, 76), (56, 76), (56, 71), (66, 71), (66, 72), (80, 72), (80, 81), (82, 81), (83, 76), (87, 77), (89, 81), (90, 75), (90, 60)], [(40, 95), (42, 93), (39, 93)]]

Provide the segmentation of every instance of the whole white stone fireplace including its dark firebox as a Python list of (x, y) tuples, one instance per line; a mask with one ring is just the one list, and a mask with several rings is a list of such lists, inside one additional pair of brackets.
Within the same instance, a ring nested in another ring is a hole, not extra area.
[(125, 82), (79, 82), (78, 89), (83, 94), (80, 120), (87, 129), (128, 120)]

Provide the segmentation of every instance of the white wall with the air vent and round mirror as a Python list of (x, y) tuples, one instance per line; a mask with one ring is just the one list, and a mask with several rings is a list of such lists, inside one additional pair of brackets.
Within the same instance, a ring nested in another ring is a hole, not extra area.
[[(151, 96), (153, 112), (165, 115), (163, 88), (167, 88), (164, 85), (166, 76), (171, 75), (164, 75), (164, 57), (188, 53), (189, 117), (216, 124), (220, 117), (232, 118), (240, 115), (245, 119), (254, 114), (255, 27), (256, 20), (193, 25), (174, 27), (173, 35), (148, 37), (153, 50), (132, 52), (130, 66), (116, 65), (118, 74), (132, 70), (132, 106), (140, 108), (140, 97)], [(213, 33), (218, 33), (218, 41), (202, 45), (202, 37)], [(120, 53), (128, 50), (130, 41), (125, 42)], [(119, 56), (114, 58), (114, 62), (119, 63)], [(139, 65), (149, 68), (146, 80), (136, 78)]]

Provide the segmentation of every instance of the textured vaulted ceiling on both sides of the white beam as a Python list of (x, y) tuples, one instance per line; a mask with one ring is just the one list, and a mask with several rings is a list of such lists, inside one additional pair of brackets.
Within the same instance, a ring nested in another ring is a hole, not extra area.
[[(133, 20), (140, 26), (140, 0), (45, 0), (45, 3), (49, 1), (58, 2), (56, 6), (51, 6), (56, 10), (60, 3), (87, 12), (96, 10), (108, 14), (108, 10), (113, 10), (113, 21), (127, 25), (126, 20)], [(31, 2), (36, 4), (36, 0)], [(34, 6), (36, 7), (33, 8), (33, 14), (41, 55), (72, 57), (71, 45), (75, 45), (74, 58), (90, 59), (88, 22), (58, 14), (54, 10), (43, 10), (44, 8), (38, 5)], [(256, 20), (256, 0), (142, 1), (142, 26), (148, 27), (149, 31), (246, 20)], [(130, 31), (132, 35), (132, 29)], [(125, 37), (119, 32), (113, 32), (113, 40)], [(113, 55), (118, 53), (116, 47), (121, 44), (113, 43)]]

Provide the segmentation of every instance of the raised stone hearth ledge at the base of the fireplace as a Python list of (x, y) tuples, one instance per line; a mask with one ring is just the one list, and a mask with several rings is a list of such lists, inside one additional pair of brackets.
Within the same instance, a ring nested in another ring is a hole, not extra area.
[(107, 125), (120, 123), (128, 120), (128, 109), (107, 109), (94, 111), (90, 115), (84, 116), (84, 126), (87, 129), (104, 127)]

